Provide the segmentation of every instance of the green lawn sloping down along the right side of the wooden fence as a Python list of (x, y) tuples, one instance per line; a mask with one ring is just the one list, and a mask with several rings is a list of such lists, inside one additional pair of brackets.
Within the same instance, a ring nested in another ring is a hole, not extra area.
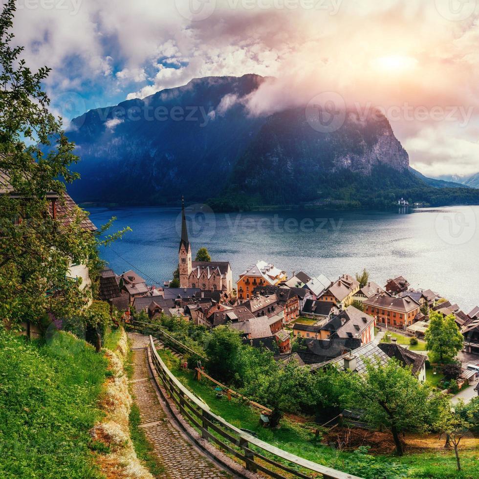
[[(228, 401), (226, 397), (218, 399), (214, 391), (213, 384), (203, 378), (198, 382), (195, 375), (190, 371), (181, 370), (178, 360), (174, 358), (170, 351), (159, 350), (167, 367), (175, 376), (196, 396), (200, 397), (211, 410), (223, 417), (226, 421), (236, 427), (254, 431), (260, 439), (273, 444), (276, 447), (304, 457), (311, 461), (323, 464), (329, 467), (344, 470), (342, 465), (344, 460), (354, 460), (351, 453), (340, 453), (330, 447), (321, 444), (315, 439), (312, 432), (316, 424), (298, 422), (283, 418), (281, 428), (278, 430), (264, 429), (259, 423), (259, 412), (249, 406), (241, 404), (232, 399)], [(406, 454), (397, 458), (393, 456), (376, 456), (376, 462), (400, 462), (409, 467), (408, 478), (426, 479), (426, 478), (477, 478), (479, 477), (479, 461), (475, 450), (461, 453), (461, 460), (464, 464), (463, 474), (457, 474), (456, 462), (453, 452)], [(376, 478), (374, 471), (364, 470), (360, 474), (364, 478)], [(383, 476), (381, 476), (383, 477)]]

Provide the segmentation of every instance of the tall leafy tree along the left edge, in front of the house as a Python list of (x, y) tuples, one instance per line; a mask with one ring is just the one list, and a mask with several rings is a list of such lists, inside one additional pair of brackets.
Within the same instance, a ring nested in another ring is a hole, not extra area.
[(12, 46), (14, 13), (10, 0), (0, 15), (0, 318), (13, 327), (38, 323), (46, 311), (57, 318), (80, 314), (91, 295), (68, 279), (70, 264), (87, 265), (94, 280), (98, 245), (121, 234), (99, 240), (111, 222), (95, 234), (84, 231), (81, 208), (69, 224), (50, 215), (47, 195), (55, 192), (65, 203), (78, 157), (61, 119), (48, 110), (42, 82), (50, 69), (31, 72), (20, 59), (23, 48)]

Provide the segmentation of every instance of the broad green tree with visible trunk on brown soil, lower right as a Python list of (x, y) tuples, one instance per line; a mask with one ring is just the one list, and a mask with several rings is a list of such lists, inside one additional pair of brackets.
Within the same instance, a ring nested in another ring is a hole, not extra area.
[(367, 362), (364, 377), (351, 375), (351, 392), (351, 406), (360, 404), (371, 426), (391, 431), (398, 456), (403, 455), (399, 434), (425, 428), (434, 412), (435, 396), (428, 386), (394, 359), (384, 366)]

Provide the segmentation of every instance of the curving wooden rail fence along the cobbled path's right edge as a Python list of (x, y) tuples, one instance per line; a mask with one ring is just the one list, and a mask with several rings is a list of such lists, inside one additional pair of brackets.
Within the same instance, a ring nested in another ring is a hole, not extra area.
[[(214, 442), (227, 453), (243, 461), (247, 470), (261, 471), (269, 477), (277, 479), (317, 477), (316, 475), (307, 475), (308, 473), (322, 474), (325, 479), (360, 479), (357, 476), (351, 476), (290, 454), (228, 423), (222, 417), (214, 414), (207, 404), (188, 391), (176, 379), (156, 352), (151, 335), (150, 349), (153, 367), (162, 386), (180, 413), (200, 431), (204, 439)], [(278, 459), (286, 461), (290, 465), (278, 462)], [(287, 476), (283, 476), (283, 473), (287, 473)]]

